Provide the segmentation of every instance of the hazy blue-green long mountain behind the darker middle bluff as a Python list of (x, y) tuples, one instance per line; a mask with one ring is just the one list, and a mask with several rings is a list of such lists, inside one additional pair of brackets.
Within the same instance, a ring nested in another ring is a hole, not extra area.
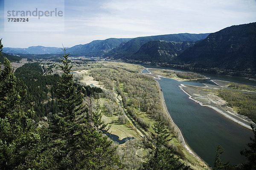
[(140, 47), (149, 41), (164, 40), (164, 41), (198, 41), (206, 38), (209, 34), (167, 34), (167, 35), (157, 35), (148, 37), (137, 37), (128, 42), (123, 42), (113, 50), (105, 54), (104, 57), (114, 58), (114, 59), (129, 59), (132, 54), (135, 54)]

